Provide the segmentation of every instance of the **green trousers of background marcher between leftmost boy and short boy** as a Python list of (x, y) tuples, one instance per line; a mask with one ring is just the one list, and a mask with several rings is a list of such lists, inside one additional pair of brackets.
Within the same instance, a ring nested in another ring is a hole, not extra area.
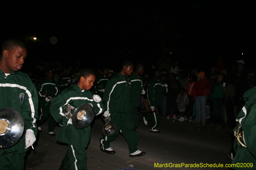
[(50, 106), (51, 105), (46, 105), (43, 108), (41, 108), (41, 115), (37, 121), (37, 126), (40, 127), (42, 126), (48, 119), (49, 117), (49, 123), (48, 123), (48, 132), (53, 132), (53, 130), (55, 129), (57, 123), (55, 122), (55, 120), (52, 117), (52, 114), (50, 112)]

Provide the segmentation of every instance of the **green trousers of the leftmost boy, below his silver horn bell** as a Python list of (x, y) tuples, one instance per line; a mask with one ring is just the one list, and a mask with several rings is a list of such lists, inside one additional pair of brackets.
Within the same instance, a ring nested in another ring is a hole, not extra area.
[(24, 170), (25, 155), (26, 153), (23, 153), (21, 155), (17, 153), (15, 153), (15, 155), (8, 153), (0, 156), (0, 159), (1, 159), (0, 169), (1, 170)]

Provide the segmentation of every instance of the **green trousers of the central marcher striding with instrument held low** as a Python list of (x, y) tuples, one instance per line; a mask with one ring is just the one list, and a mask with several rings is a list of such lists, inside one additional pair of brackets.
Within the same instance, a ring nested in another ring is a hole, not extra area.
[(111, 113), (110, 114), (110, 122), (116, 124), (117, 129), (116, 132), (111, 136), (103, 136), (100, 138), (100, 147), (102, 149), (108, 149), (110, 147), (110, 142), (113, 141), (120, 129), (123, 132), (124, 138), (128, 143), (129, 154), (136, 152), (138, 150), (137, 144), (139, 142), (139, 136), (137, 132), (134, 130), (134, 123), (132, 119), (131, 113)]

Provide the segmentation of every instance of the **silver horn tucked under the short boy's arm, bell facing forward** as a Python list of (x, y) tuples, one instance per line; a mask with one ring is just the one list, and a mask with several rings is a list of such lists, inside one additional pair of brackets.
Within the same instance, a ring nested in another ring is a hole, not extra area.
[[(72, 124), (77, 129), (84, 129), (89, 126), (94, 119), (94, 110), (90, 105), (82, 105), (75, 108), (71, 105), (65, 105), (64, 115), (67, 119), (72, 119)], [(74, 111), (72, 114), (71, 111)]]

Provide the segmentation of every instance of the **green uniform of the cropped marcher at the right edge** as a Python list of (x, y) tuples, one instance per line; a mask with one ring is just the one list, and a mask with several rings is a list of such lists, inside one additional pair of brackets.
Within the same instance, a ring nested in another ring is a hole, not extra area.
[[(236, 152), (236, 156), (234, 157), (232, 164), (247, 164), (247, 166), (243, 167), (232, 167), (234, 169), (255, 169), (256, 166), (256, 87), (246, 91), (243, 95), (244, 101), (246, 101), (244, 107), (237, 115), (237, 119), (239, 120), (242, 129), (243, 129), (243, 139), (249, 150), (246, 150), (239, 146), (236, 141), (234, 141), (234, 150)], [(233, 131), (235, 131), (236, 127)], [(253, 167), (248, 165), (252, 163)]]

